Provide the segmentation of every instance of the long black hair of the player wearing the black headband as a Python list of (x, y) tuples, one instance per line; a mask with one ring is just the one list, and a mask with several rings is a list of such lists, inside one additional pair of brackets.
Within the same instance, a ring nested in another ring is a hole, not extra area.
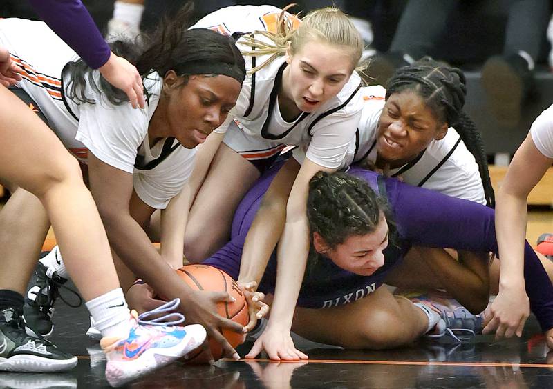
[[(245, 74), (244, 58), (235, 45), (234, 38), (205, 28), (191, 26), (194, 5), (188, 1), (172, 17), (165, 17), (151, 34), (141, 34), (136, 41), (115, 41), (111, 50), (133, 63), (142, 79), (155, 71), (164, 77), (169, 70), (194, 61), (221, 62), (238, 66)], [(178, 73), (178, 72), (177, 72)], [(88, 83), (97, 93), (102, 92), (112, 104), (128, 101), (126, 94), (108, 83), (99, 72), (88, 68), (84, 61), (68, 63), (64, 74), (69, 74), (68, 97), (77, 103), (94, 103), (86, 96)], [(181, 75), (181, 74), (177, 74)], [(184, 86), (188, 77), (185, 76)], [(144, 91), (148, 96), (148, 91)]]

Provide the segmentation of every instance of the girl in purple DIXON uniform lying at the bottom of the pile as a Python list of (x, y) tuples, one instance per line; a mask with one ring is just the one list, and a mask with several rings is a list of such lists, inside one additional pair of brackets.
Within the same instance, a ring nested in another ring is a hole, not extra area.
[[(241, 254), (248, 230), (281, 166), (265, 173), (245, 195), (234, 215), (231, 241), (204, 264), (235, 279), (247, 266)], [(291, 323), (298, 335), (345, 348), (392, 348), (425, 333), (443, 336), (451, 335), (449, 330), (453, 335), (482, 330), (478, 312), (487, 305), (489, 263), (487, 257), (465, 261), (464, 255), (497, 254), (492, 208), (353, 167), (347, 173), (317, 173), (310, 181), (307, 210), (310, 256), (305, 275), (299, 265), (294, 266), (303, 279)], [(420, 250), (424, 256), (426, 247), (459, 250), (463, 261), (429, 260), (435, 261), (436, 277), (447, 292), (468, 309), (441, 295), (409, 301), (380, 287), (406, 253)], [(532, 279), (526, 283), (532, 310), (551, 348), (553, 286), (528, 243), (523, 262), (525, 279)], [(277, 274), (275, 250), (259, 277), (258, 299), (272, 300), (264, 294), (274, 294)], [(453, 340), (458, 341), (457, 335)], [(265, 348), (271, 359), (286, 359), (271, 348), (271, 339), (262, 337), (246, 357)]]

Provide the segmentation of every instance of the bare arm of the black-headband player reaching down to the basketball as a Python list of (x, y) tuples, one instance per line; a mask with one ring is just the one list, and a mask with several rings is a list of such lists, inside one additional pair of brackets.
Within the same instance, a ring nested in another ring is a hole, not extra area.
[(179, 309), (191, 323), (203, 324), (210, 336), (221, 343), (225, 355), (238, 358), (236, 351), (221, 335), (221, 326), (238, 332), (242, 326), (216, 315), (217, 301), (230, 301), (227, 293), (194, 292), (180, 281), (176, 272), (163, 261), (139, 223), (129, 211), (133, 192), (133, 175), (124, 172), (88, 154), (88, 172), (91, 190), (104, 222), (111, 247), (135, 275), (149, 283), (168, 299), (179, 297)]

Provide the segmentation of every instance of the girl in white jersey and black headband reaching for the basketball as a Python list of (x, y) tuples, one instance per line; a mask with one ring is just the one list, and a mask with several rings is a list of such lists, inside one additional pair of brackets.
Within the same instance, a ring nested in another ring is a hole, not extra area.
[[(147, 96), (144, 110), (126, 103), (122, 90), (89, 68), (44, 23), (2, 19), (0, 43), (22, 68), (14, 92), (32, 101), (64, 146), (87, 163), (122, 289), (126, 292), (138, 276), (165, 290), (169, 299), (180, 298), (177, 309), (189, 321), (205, 325), (225, 355), (238, 357), (219, 328), (237, 332), (243, 328), (215, 310), (218, 301), (231, 297), (199, 294), (185, 286), (167, 266), (171, 253), (162, 249), (160, 255), (144, 231), (154, 210), (165, 213), (175, 208), (176, 201), (186, 201), (196, 146), (225, 121), (245, 77), (234, 39), (207, 29), (187, 30), (191, 11), (188, 4), (144, 36), (142, 44), (112, 45), (113, 52), (135, 64), (141, 74)], [(38, 257), (50, 220), (32, 194), (12, 185), (10, 191), (12, 197), (0, 217), (3, 226), (10, 226), (1, 229), (2, 257), (10, 263), (27, 263)], [(21, 218), (23, 211), (28, 217)], [(163, 246), (171, 232), (183, 239), (184, 226), (173, 228), (171, 222), (174, 225), (174, 219), (164, 217), (163, 228), (169, 234), (163, 235)], [(176, 261), (182, 265), (182, 247)], [(67, 277), (57, 248), (39, 261), (24, 306), (29, 332), (52, 333), (57, 287)], [(104, 320), (97, 322), (96, 332), (104, 326)]]

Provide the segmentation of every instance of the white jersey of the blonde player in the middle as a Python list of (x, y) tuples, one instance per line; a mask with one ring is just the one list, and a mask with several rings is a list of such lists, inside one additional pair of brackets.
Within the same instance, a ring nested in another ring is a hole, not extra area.
[[(279, 8), (272, 6), (227, 7), (200, 19), (194, 28), (212, 28), (224, 34), (274, 31), (280, 13)], [(290, 17), (289, 23), (293, 25), (299, 21)], [(256, 39), (266, 38), (256, 34)], [(243, 42), (238, 39), (238, 48), (251, 50)], [(246, 69), (259, 66), (268, 57), (245, 56)], [(317, 111), (304, 112), (288, 122), (281, 116), (277, 99), (285, 66), (285, 58), (281, 56), (247, 75), (236, 106), (216, 132), (225, 133), (225, 144), (247, 159), (269, 158), (285, 145), (294, 145), (299, 146), (294, 150), (294, 157), (300, 162), (306, 156), (320, 166), (338, 168), (355, 133), (362, 108), (359, 74), (353, 72), (337, 96)]]

